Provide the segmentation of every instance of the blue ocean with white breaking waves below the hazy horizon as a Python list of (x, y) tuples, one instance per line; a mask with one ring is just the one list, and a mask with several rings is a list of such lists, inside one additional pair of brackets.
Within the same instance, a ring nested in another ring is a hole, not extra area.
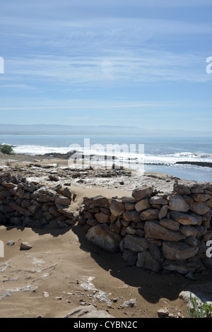
[[(136, 169), (138, 163), (143, 163), (145, 172), (164, 172), (181, 179), (212, 182), (212, 167), (209, 167), (212, 137), (0, 135), (0, 143), (13, 145), (15, 153), (28, 155), (67, 153), (76, 148), (96, 155), (100, 163), (104, 162), (105, 154), (115, 154), (125, 167)], [(114, 150), (114, 145), (118, 150)], [(198, 162), (204, 162), (204, 167), (197, 165)]]

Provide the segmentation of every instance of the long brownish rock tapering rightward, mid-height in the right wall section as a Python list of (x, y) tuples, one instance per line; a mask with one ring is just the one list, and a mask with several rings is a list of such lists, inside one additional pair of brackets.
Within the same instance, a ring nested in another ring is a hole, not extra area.
[(144, 231), (147, 237), (153, 239), (163, 239), (165, 241), (179, 241), (185, 236), (181, 232), (169, 230), (155, 220), (149, 220), (144, 225)]

